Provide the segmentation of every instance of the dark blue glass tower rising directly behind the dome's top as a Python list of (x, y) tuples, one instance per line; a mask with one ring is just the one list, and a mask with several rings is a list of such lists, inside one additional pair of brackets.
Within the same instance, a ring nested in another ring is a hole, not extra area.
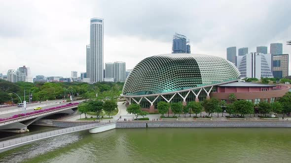
[(186, 36), (175, 33), (173, 36), (172, 53), (191, 53), (189, 41), (187, 41)]

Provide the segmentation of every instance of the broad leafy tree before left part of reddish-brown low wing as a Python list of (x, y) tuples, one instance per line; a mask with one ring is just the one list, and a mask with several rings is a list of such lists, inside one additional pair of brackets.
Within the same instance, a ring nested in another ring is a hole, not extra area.
[(236, 112), (241, 114), (241, 116), (245, 116), (245, 114), (251, 114), (254, 112), (254, 104), (246, 100), (235, 101), (233, 106)]

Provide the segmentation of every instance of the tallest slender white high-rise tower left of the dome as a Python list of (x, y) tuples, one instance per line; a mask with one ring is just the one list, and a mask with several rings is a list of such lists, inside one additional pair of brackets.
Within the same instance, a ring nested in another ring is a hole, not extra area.
[(100, 18), (90, 20), (90, 82), (101, 82), (104, 79), (103, 72), (103, 26)]

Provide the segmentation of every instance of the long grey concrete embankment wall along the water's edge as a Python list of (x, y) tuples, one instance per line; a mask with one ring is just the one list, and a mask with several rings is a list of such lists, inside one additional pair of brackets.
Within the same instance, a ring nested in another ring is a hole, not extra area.
[(291, 128), (291, 122), (117, 122), (121, 128)]

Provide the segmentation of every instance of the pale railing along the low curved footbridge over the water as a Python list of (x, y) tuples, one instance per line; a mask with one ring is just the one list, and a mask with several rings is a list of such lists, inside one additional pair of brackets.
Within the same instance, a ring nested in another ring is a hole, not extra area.
[(74, 126), (74, 127), (69, 127), (69, 128), (65, 128), (65, 129), (53, 130), (50, 132), (39, 133), (39, 134), (35, 134), (35, 135), (5, 140), (5, 141), (0, 142), (0, 150), (3, 148), (7, 148), (9, 146), (15, 146), (18, 144), (28, 143), (28, 142), (31, 142), (34, 140), (39, 140), (39, 139), (43, 139), (43, 138), (47, 138), (47, 137), (58, 136), (58, 135), (73, 133), (73, 132), (77, 132), (77, 131), (87, 130), (87, 129), (91, 129), (91, 128), (94, 128), (97, 126), (103, 126), (103, 125), (107, 125), (107, 124), (112, 124), (112, 123), (110, 123), (110, 122), (90, 123), (90, 124), (86, 124), (86, 125)]

